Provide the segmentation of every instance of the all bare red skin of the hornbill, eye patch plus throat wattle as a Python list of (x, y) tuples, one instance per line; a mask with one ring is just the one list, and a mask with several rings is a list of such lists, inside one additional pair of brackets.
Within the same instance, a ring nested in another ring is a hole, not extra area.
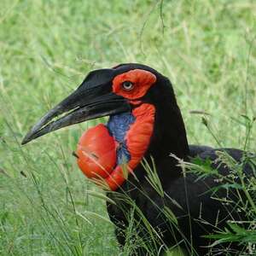
[[(122, 87), (125, 81), (131, 81), (134, 85), (131, 90)], [(137, 105), (141, 103), (139, 99), (147, 93), (155, 81), (156, 77), (153, 73), (134, 69), (113, 79), (113, 92), (129, 99), (131, 104)], [(125, 135), (126, 146), (131, 155), (125, 166), (128, 172), (136, 168), (148, 149), (154, 129), (155, 108), (151, 104), (143, 103), (134, 108), (132, 114), (136, 120)], [(79, 140), (77, 150), (79, 168), (87, 177), (97, 180), (103, 178), (109, 189), (118, 189), (125, 182), (126, 175), (122, 170), (124, 166), (115, 166), (117, 147), (118, 143), (109, 135), (105, 125), (90, 128)]]

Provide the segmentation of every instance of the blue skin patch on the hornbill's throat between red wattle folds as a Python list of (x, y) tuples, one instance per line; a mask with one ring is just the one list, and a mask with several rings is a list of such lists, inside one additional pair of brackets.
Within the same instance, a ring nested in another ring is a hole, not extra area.
[(127, 163), (131, 160), (131, 154), (126, 146), (125, 134), (135, 119), (130, 112), (115, 114), (108, 119), (108, 131), (119, 143), (119, 148), (117, 148), (117, 165)]

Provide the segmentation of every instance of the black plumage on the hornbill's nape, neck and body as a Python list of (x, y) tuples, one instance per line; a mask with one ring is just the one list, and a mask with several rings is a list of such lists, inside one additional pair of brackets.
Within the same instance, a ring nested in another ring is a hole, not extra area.
[[(123, 68), (124, 70), (132, 69), (134, 65), (125, 65)], [(136, 66), (136, 68), (138, 67)], [(189, 252), (189, 255), (192, 253), (207, 255), (210, 252), (210, 248), (207, 246), (211, 244), (211, 241), (203, 236), (214, 231), (224, 230), (228, 220), (245, 220), (245, 213), (237, 212), (236, 203), (225, 204), (221, 201), (228, 197), (228, 200), (238, 202), (239, 198), (235, 189), (229, 189), (229, 195), (227, 195), (226, 189), (218, 189), (218, 192), (213, 194), (211, 189), (220, 185), (218, 177), (210, 176), (198, 179), (193, 173), (187, 173), (184, 177), (177, 159), (170, 154), (174, 154), (184, 161), (193, 161), (195, 158), (211, 160), (212, 168), (218, 169), (221, 175), (227, 176), (230, 170), (220, 163), (216, 151), (230, 154), (238, 162), (244, 153), (234, 148), (214, 149), (206, 146), (189, 146), (183, 119), (169, 79), (151, 68), (142, 66), (139, 68), (147, 69), (157, 76), (157, 84), (148, 91), (144, 99), (145, 102), (154, 104), (156, 108), (154, 134), (144, 157), (148, 163), (151, 162), (151, 157), (154, 158), (154, 164), (166, 195), (162, 198), (148, 183), (148, 179), (145, 178), (147, 173), (142, 165), (137, 166), (134, 171), (136, 177), (130, 175), (117, 192), (125, 193), (131, 197), (132, 201), (136, 202), (148, 222), (161, 234), (162, 241), (167, 247), (179, 244)], [(251, 172), (251, 169), (247, 165), (244, 167), (244, 171), (248, 173)], [(123, 199), (120, 200), (116, 193), (109, 193), (108, 196), (116, 202), (116, 205), (108, 204), (108, 214), (117, 226), (116, 233), (119, 243), (124, 245), (125, 233), (122, 230), (129, 225), (127, 216), (129, 217), (132, 207)], [(163, 213), (164, 207), (169, 207), (176, 216), (177, 229), (167, 220)], [(138, 223), (142, 223), (140, 214), (135, 214), (135, 217)], [(146, 230), (138, 231), (141, 236), (146, 236), (146, 232)], [(161, 244), (156, 248), (155, 253), (160, 246)], [(213, 247), (211, 250), (219, 253), (220, 247), (222, 249), (226, 247), (227, 253), (231, 255), (239, 255), (242, 249), (238, 243), (226, 243)], [(147, 249), (137, 248), (137, 254), (147, 254)]]

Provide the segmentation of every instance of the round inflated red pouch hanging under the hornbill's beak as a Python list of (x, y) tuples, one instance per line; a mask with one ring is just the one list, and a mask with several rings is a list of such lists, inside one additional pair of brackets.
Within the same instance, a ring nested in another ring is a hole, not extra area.
[(79, 139), (78, 165), (90, 178), (108, 177), (116, 163), (116, 143), (105, 125), (96, 125)]

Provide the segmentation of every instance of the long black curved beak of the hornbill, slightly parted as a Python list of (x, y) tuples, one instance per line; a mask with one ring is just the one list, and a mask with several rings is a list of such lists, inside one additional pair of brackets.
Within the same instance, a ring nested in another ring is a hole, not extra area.
[[(77, 90), (57, 104), (55, 108), (49, 110), (27, 132), (21, 144), (29, 143), (37, 137), (68, 125), (130, 111), (129, 102), (124, 97), (117, 96), (112, 92), (111, 80), (113, 75), (111, 69), (89, 73)], [(55, 119), (58, 117), (59, 119)]]

